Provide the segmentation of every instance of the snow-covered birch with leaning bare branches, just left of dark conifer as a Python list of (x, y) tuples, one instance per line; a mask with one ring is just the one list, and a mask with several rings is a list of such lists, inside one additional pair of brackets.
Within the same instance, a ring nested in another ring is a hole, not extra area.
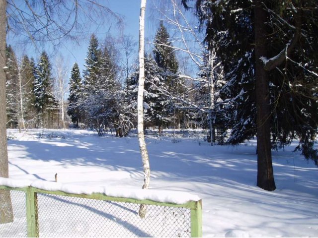
[[(174, 29), (173, 39), (171, 39), (168, 44), (157, 41), (155, 45), (164, 46), (170, 48), (170, 51), (185, 55), (191, 59), (193, 66), (201, 70), (198, 78), (182, 74), (178, 74), (177, 76), (187, 79), (188, 81), (194, 81), (199, 87), (208, 88), (208, 90), (205, 91), (201, 90), (206, 93), (207, 97), (204, 97), (205, 102), (200, 100), (200, 102), (202, 102), (202, 104), (200, 104), (198, 102), (190, 102), (184, 98), (180, 99), (180, 97), (175, 94), (173, 96), (179, 98), (179, 101), (182, 101), (183, 104), (188, 105), (186, 107), (187, 109), (190, 107), (207, 115), (209, 137), (211, 139), (211, 145), (213, 145), (215, 141), (216, 110), (222, 103), (216, 88), (220, 88), (220, 85), (225, 84), (222, 75), (222, 64), (220, 60), (218, 60), (214, 49), (217, 47), (217, 44), (214, 42), (210, 44), (211, 49), (207, 49), (207, 45), (203, 42), (204, 36), (198, 30), (198, 27), (190, 22), (178, 2), (176, 0), (169, 0), (167, 4), (169, 5), (168, 10), (161, 10), (160, 7), (157, 7), (157, 9), (163, 16), (164, 21)], [(172, 46), (171, 42), (174, 42), (174, 46)], [(188, 91), (193, 91), (194, 89), (198, 89), (198, 87), (190, 87)], [(216, 101), (219, 103), (216, 104)]]

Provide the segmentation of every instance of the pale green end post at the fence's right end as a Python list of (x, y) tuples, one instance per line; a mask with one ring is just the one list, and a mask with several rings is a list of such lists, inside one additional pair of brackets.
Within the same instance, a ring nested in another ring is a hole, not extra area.
[(202, 237), (202, 200), (191, 208), (191, 237)]

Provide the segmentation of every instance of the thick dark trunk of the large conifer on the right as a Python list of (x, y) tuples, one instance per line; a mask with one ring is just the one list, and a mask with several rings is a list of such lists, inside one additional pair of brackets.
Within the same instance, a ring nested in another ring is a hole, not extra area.
[(268, 14), (261, 0), (254, 7), (255, 24), (255, 77), (257, 108), (257, 186), (268, 191), (276, 189), (270, 141), (269, 73), (261, 57), (267, 57), (266, 25)]

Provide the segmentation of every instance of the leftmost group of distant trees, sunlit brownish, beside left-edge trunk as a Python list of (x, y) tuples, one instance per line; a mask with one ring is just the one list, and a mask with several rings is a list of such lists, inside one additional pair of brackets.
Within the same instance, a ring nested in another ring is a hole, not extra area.
[(19, 59), (7, 46), (5, 72), (7, 128), (58, 128), (60, 113), (47, 53), (35, 62), (26, 55)]

